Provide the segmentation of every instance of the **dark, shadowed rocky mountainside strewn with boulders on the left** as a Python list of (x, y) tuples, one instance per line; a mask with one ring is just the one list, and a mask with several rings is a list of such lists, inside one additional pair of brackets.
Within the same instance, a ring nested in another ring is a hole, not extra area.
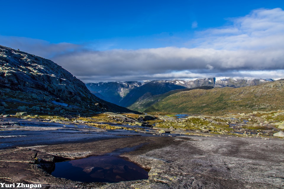
[(128, 111), (99, 99), (82, 81), (51, 60), (3, 46), (0, 46), (0, 92), (1, 112)]

